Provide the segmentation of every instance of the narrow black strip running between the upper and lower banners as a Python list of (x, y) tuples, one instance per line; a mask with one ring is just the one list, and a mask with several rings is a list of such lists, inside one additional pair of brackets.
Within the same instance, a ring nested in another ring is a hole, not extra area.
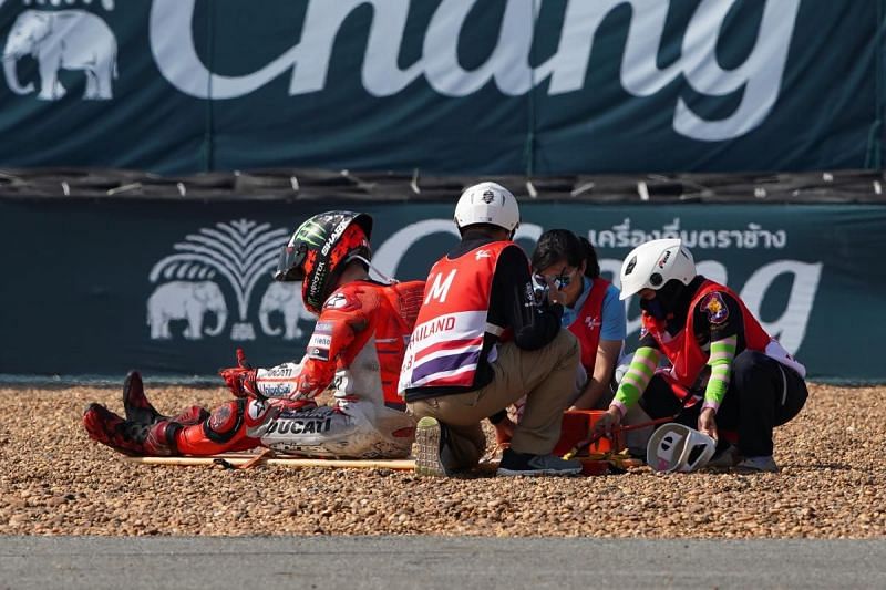
[[(0, 198), (208, 201), (449, 203), (493, 179), (526, 201), (886, 204), (883, 170), (562, 176), (429, 176), (391, 172), (277, 168), (163, 177), (114, 169), (0, 169)], [(356, 206), (356, 205), (354, 205)]]

